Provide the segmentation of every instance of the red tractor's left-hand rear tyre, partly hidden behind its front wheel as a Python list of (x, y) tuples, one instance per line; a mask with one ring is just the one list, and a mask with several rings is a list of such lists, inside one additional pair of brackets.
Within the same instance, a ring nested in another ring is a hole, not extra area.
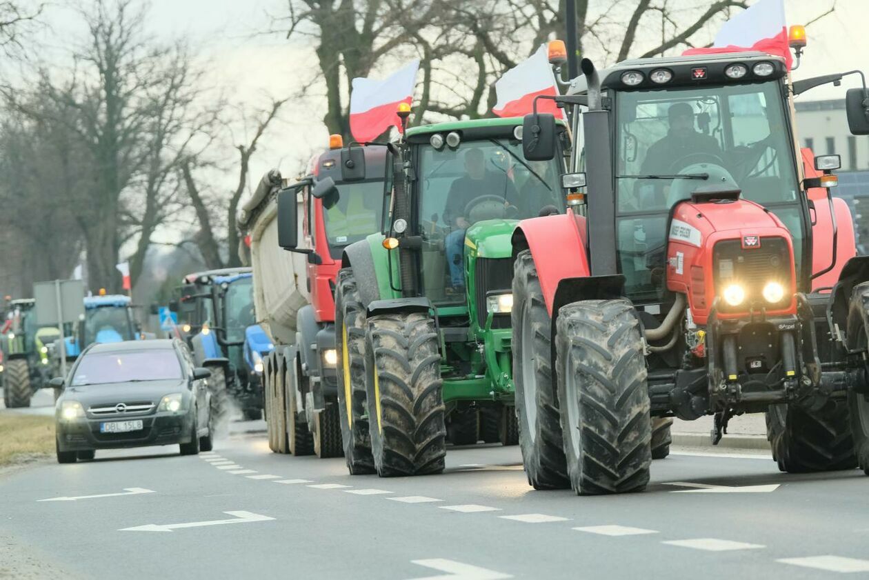
[(513, 377), (522, 463), (535, 490), (564, 489), (570, 482), (553, 383), (552, 320), (529, 250), (519, 253), (513, 272)]

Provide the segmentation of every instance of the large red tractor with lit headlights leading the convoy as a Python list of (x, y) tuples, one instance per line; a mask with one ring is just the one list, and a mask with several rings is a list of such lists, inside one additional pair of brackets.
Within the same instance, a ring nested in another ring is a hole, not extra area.
[[(556, 97), (572, 209), (513, 236), (529, 482), (643, 490), (650, 417), (713, 415), (718, 443), (742, 413), (766, 413), (780, 470), (869, 473), (869, 257), (830, 194), (839, 157), (804, 167), (793, 127), (793, 97), (843, 75), (793, 83), (758, 52), (582, 71)], [(865, 83), (847, 105), (869, 134)], [(526, 117), (523, 149), (556, 154), (553, 116)]]

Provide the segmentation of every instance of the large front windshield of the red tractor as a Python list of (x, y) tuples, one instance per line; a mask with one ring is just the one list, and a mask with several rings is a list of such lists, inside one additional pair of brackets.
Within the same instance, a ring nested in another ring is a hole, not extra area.
[(775, 82), (616, 96), (620, 271), (638, 302), (660, 301), (670, 209), (693, 190), (728, 183), (804, 237), (797, 165)]

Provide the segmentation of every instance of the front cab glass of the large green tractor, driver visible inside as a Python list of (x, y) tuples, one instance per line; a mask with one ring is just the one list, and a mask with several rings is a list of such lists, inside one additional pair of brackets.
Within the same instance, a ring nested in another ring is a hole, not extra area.
[(464, 301), (462, 252), (471, 225), (564, 210), (561, 159), (527, 161), (514, 138), (468, 141), (440, 150), (426, 143), (416, 154), (421, 290), (434, 303)]

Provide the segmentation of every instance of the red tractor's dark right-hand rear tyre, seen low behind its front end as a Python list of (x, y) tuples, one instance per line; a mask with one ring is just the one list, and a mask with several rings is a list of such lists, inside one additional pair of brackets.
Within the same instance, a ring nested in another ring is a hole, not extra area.
[(779, 470), (811, 473), (857, 467), (850, 421), (845, 401), (827, 401), (820, 410), (794, 403), (770, 405), (766, 438)]

